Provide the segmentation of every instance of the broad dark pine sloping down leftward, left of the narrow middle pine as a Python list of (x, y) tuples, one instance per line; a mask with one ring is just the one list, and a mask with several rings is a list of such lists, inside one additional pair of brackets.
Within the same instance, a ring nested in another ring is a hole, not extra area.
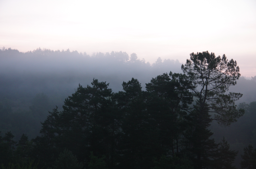
[(91, 150), (97, 155), (110, 152), (108, 165), (113, 165), (119, 123), (111, 96), (106, 82), (94, 79), (92, 87), (79, 85), (76, 93), (65, 99), (63, 111), (56, 108), (50, 112), (41, 130), (43, 137), (56, 143), (52, 146), (72, 150), (79, 161), (88, 160)]

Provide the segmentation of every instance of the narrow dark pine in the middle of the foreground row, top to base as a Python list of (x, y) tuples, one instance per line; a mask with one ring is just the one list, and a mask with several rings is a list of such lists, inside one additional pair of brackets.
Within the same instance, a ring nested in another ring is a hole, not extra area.
[(151, 154), (158, 148), (155, 144), (154, 131), (150, 130), (150, 117), (145, 103), (145, 92), (137, 79), (123, 82), (124, 91), (114, 95), (120, 120), (120, 140), (118, 150), (120, 153), (121, 168), (147, 168), (151, 164)]

